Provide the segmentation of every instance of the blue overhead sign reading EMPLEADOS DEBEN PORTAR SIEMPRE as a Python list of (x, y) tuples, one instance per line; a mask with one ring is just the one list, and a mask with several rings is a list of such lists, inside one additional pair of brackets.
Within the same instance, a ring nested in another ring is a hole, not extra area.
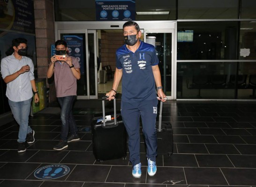
[(135, 20), (135, 0), (95, 0), (96, 21)]

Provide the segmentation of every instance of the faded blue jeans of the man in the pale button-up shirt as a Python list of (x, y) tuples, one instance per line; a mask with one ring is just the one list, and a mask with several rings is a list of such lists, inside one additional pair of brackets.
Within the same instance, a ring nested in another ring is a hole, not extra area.
[(29, 127), (31, 100), (32, 98), (19, 102), (8, 100), (14, 119), (20, 125), (18, 142), (25, 142), (27, 134), (32, 132), (32, 129)]

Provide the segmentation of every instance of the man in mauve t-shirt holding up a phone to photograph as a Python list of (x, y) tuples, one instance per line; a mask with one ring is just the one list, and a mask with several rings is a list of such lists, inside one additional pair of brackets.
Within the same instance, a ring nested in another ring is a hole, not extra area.
[[(64, 40), (55, 42), (56, 55), (51, 57), (51, 63), (47, 71), (47, 78), (54, 73), (56, 96), (61, 108), (61, 134), (54, 150), (63, 150), (68, 147), (68, 142), (80, 140), (78, 129), (73, 117), (72, 107), (76, 97), (76, 80), (80, 79), (80, 64), (78, 60), (66, 54), (68, 50)], [(59, 56), (58, 56), (59, 55)], [(71, 135), (67, 137), (68, 132)]]

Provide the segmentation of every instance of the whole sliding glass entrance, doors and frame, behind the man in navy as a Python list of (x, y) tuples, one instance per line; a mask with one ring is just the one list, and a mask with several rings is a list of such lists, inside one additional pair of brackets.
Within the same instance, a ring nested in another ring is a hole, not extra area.
[[(174, 50), (176, 22), (138, 21), (137, 23), (143, 31), (140, 39), (152, 43), (157, 50), (164, 92), (168, 99), (175, 100), (176, 92), (182, 93), (182, 80), (180, 81), (179, 76), (176, 76)], [(124, 44), (123, 24), (124, 22), (56, 23), (55, 29), (58, 33), (56, 38), (63, 39), (66, 36), (65, 40), (73, 51), (72, 55), (80, 59), (81, 79), (77, 81), (78, 99), (98, 99), (111, 89), (116, 68), (115, 52)], [(119, 86), (118, 94), (121, 96), (121, 84)]]

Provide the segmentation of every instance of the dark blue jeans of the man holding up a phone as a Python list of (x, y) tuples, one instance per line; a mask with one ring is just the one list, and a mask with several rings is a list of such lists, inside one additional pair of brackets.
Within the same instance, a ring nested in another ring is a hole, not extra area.
[(60, 119), (61, 119), (61, 135), (60, 139), (67, 141), (68, 131), (71, 134), (77, 134), (78, 130), (72, 113), (73, 102), (75, 95), (66, 97), (58, 97), (59, 105), (61, 108)]

